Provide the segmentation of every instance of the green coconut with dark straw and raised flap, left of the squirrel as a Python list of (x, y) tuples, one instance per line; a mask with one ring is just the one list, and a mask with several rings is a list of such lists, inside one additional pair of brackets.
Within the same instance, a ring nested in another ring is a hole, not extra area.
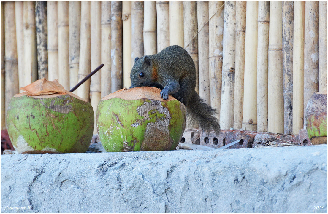
[(86, 152), (94, 126), (92, 106), (58, 82), (37, 80), (10, 100), (8, 134), (19, 153)]

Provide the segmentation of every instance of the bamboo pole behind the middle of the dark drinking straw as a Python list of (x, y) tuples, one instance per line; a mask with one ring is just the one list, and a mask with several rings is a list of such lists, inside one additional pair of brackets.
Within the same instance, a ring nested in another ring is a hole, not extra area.
[[(90, 73), (90, 1), (81, 1), (81, 28), (78, 81)], [(90, 79), (77, 88), (77, 96), (89, 100)]]

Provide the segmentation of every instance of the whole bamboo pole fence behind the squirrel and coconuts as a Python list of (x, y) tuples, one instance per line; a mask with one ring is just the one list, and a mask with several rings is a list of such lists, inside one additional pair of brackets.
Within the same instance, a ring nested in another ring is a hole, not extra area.
[(298, 134), (327, 87), (326, 16), (325, 1), (1, 2), (1, 128), (11, 96), (47, 71), (70, 89), (103, 63), (74, 92), (96, 111), (131, 85), (135, 57), (179, 45), (222, 129)]

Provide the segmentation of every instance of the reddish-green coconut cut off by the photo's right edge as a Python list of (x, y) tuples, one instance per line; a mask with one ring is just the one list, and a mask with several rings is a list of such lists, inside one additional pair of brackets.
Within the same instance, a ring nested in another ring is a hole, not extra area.
[(311, 96), (305, 110), (305, 123), (312, 144), (327, 144), (327, 91)]

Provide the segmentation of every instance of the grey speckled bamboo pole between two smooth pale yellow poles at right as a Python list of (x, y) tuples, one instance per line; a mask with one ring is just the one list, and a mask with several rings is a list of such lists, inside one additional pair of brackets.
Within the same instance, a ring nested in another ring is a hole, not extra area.
[(282, 72), (285, 134), (291, 134), (293, 131), (293, 29), (294, 2), (282, 1)]

